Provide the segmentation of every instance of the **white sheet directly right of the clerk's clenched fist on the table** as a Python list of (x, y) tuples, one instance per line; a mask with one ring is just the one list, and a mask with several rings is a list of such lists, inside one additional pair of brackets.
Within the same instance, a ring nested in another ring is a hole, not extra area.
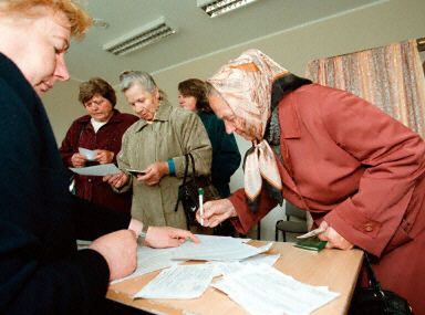
[(174, 248), (152, 249), (148, 246), (138, 246), (136, 270), (131, 275), (113, 281), (112, 284), (122, 282), (124, 280), (132, 279), (135, 276), (139, 276), (156, 270), (160, 270), (160, 269), (165, 269), (172, 265), (177, 265), (179, 263), (183, 263), (182, 261), (173, 260), (174, 251), (175, 251)]

